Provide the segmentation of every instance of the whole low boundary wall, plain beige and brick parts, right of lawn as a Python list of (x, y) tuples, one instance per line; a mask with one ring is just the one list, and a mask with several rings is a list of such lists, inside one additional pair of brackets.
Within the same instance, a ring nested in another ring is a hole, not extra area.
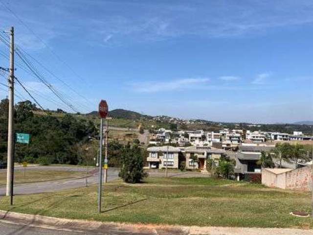
[(264, 168), (262, 184), (268, 187), (312, 191), (313, 165), (297, 168)]

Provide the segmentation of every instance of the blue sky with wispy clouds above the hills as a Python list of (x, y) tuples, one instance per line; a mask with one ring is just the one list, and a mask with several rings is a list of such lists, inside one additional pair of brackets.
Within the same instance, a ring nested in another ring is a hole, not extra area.
[[(81, 112), (106, 99), (110, 109), (178, 118), (313, 119), (311, 0), (2, 2), (44, 43), (4, 7), (0, 29), (14, 25), (17, 44), (88, 99), (37, 65)], [(16, 75), (43, 106), (68, 110), (36, 78)]]

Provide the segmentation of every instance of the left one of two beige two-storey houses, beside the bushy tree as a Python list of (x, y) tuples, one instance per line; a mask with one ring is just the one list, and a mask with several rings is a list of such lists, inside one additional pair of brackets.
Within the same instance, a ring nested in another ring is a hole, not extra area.
[(179, 168), (179, 155), (181, 150), (178, 147), (173, 146), (153, 146), (147, 148), (149, 156), (147, 162), (149, 168)]

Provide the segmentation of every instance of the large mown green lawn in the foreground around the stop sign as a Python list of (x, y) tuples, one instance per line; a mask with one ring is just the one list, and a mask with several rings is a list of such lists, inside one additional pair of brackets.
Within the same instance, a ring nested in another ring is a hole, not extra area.
[(107, 184), (103, 212), (98, 214), (96, 187), (21, 195), (0, 209), (64, 218), (197, 226), (313, 228), (309, 193), (211, 178), (148, 178), (146, 183)]

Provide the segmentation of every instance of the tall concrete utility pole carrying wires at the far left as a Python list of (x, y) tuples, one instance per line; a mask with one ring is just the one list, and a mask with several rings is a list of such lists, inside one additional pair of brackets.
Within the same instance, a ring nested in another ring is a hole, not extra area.
[(6, 171), (6, 195), (13, 194), (14, 170), (14, 28), (10, 30), (10, 75), (9, 75), (9, 117), (8, 117), (8, 155)]

